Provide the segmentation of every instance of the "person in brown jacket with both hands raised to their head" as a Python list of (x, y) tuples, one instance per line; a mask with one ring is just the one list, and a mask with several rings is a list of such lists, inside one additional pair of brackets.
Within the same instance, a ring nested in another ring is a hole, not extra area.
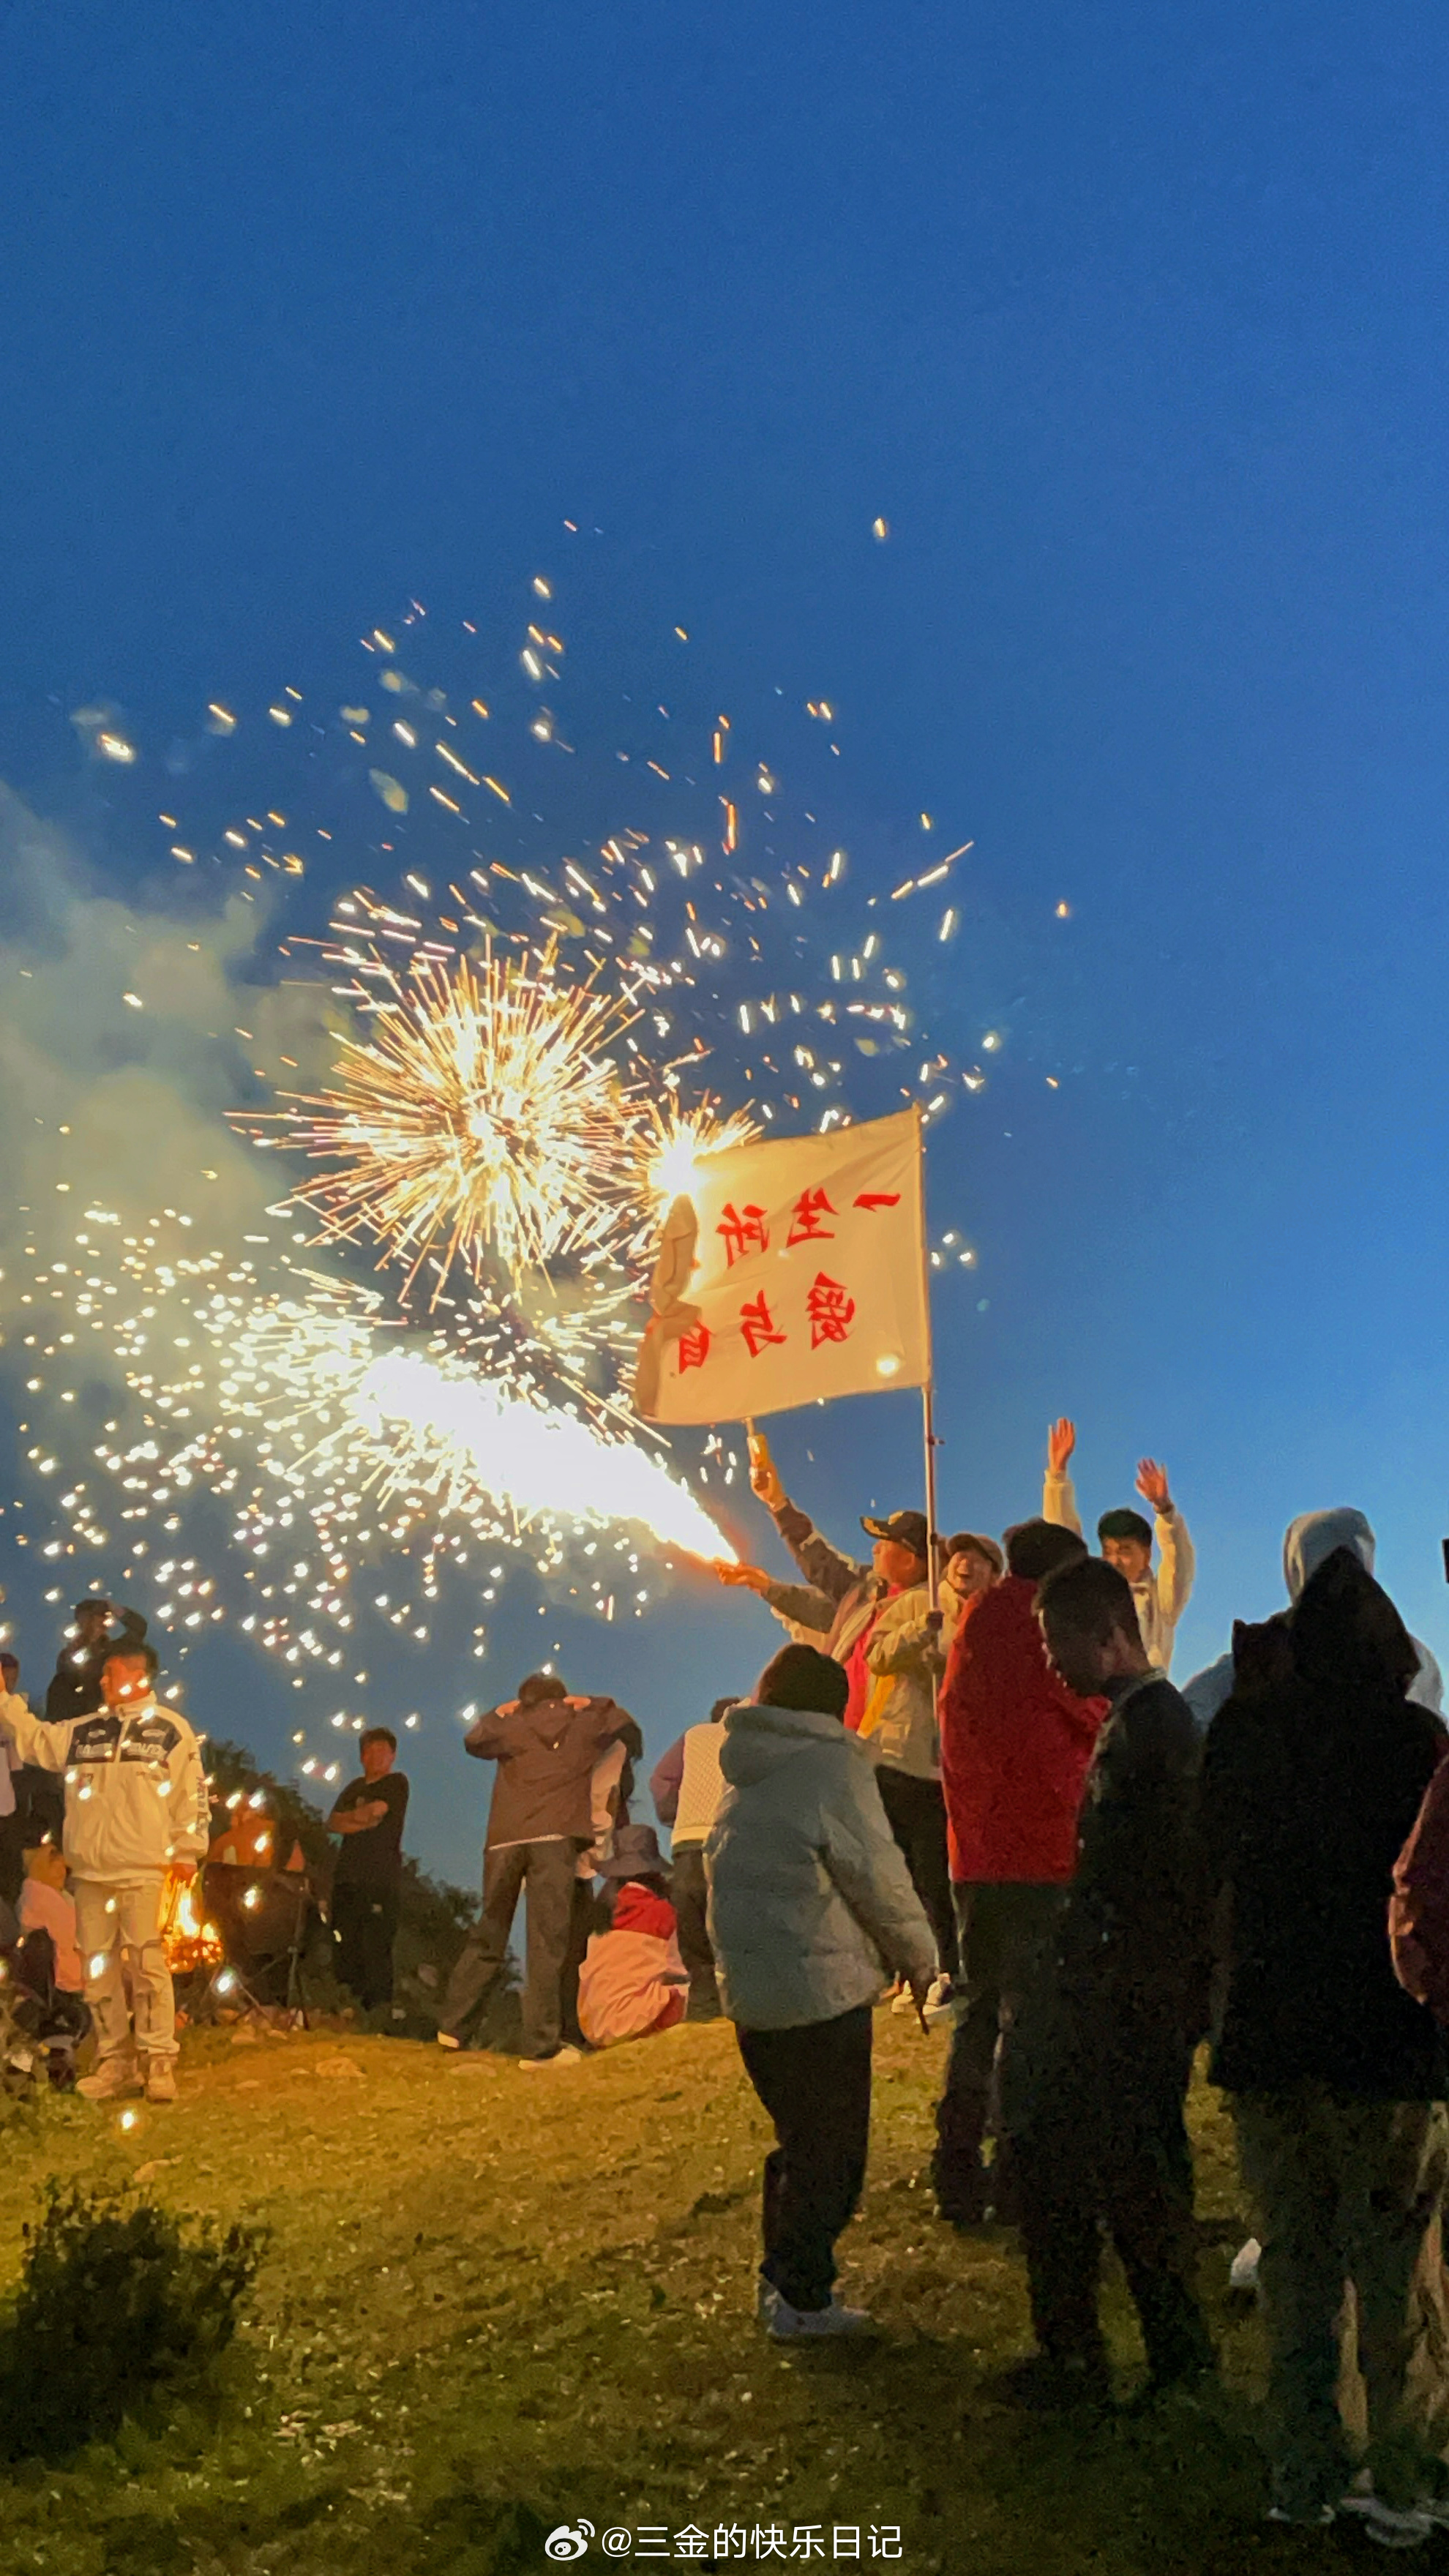
[(521, 2063), (578, 2066), (578, 2048), (562, 2043), (562, 1976), (578, 1855), (593, 1842), (593, 1767), (616, 1736), (637, 1759), (642, 1739), (629, 1710), (614, 1700), (570, 1698), (554, 1672), (529, 1672), (516, 1700), (487, 1708), (469, 1726), (464, 1752), (480, 1762), (498, 1762), (498, 1777), (482, 1852), (482, 1911), (443, 1994), (438, 2027), (443, 2048), (462, 2048), (482, 2017), (526, 1891)]

